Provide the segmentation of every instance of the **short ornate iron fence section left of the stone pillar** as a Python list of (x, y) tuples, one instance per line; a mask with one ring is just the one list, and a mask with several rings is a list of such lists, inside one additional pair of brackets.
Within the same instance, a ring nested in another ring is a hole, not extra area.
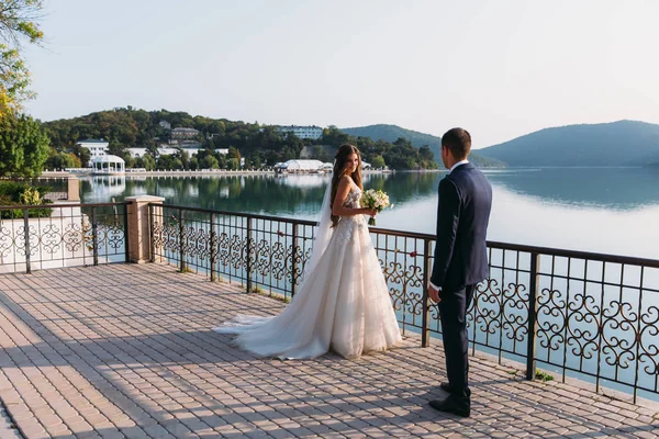
[(125, 203), (0, 206), (0, 272), (127, 261)]

